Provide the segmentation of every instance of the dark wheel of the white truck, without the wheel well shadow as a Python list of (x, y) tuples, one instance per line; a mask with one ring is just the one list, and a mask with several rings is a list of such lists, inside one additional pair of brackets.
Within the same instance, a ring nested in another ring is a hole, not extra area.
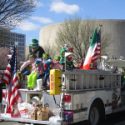
[(101, 114), (97, 105), (92, 105), (89, 112), (89, 125), (99, 125)]

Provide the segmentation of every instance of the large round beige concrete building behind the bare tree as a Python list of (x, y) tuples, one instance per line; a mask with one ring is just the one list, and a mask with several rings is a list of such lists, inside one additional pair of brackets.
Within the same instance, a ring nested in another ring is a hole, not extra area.
[[(96, 25), (103, 26), (103, 33), (109, 37), (109, 46), (106, 51), (110, 56), (124, 56), (125, 57), (125, 20), (83, 20), (83, 22), (94, 22)], [(62, 24), (54, 24), (41, 28), (40, 31), (40, 45), (43, 47), (56, 48), (55, 39), (59, 27)]]

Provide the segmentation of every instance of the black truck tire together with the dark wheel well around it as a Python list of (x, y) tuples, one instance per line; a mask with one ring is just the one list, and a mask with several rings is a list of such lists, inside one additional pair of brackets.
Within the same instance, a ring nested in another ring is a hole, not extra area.
[(105, 118), (104, 116), (105, 113), (102, 103), (99, 102), (93, 103), (89, 112), (89, 119), (88, 119), (89, 125), (100, 125), (100, 124), (102, 125)]

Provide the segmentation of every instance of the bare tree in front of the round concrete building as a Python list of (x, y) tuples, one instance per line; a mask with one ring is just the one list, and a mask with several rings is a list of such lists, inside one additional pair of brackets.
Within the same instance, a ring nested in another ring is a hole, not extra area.
[[(82, 21), (80, 18), (68, 19), (59, 28), (56, 37), (57, 46), (68, 44), (74, 48), (75, 60), (84, 59), (88, 47), (90, 37), (97, 27), (94, 21)], [(102, 33), (102, 53), (105, 53), (105, 48), (108, 44), (108, 35)]]

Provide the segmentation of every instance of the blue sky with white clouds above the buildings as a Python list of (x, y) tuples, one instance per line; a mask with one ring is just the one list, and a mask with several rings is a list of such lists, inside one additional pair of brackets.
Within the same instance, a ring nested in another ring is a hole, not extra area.
[(39, 39), (44, 26), (63, 22), (65, 19), (125, 19), (125, 0), (34, 0), (36, 8), (14, 30), (26, 35), (26, 44)]

